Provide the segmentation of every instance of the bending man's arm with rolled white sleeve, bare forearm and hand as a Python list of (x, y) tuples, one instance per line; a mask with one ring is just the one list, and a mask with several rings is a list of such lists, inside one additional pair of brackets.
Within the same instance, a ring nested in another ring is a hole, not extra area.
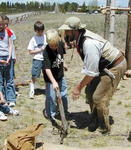
[(94, 77), (99, 76), (99, 61), (100, 52), (98, 49), (99, 45), (92, 40), (85, 40), (83, 45), (84, 65), (81, 73), (85, 74), (82, 81), (73, 90), (73, 99), (77, 99), (80, 96), (81, 90), (86, 85), (90, 84)]

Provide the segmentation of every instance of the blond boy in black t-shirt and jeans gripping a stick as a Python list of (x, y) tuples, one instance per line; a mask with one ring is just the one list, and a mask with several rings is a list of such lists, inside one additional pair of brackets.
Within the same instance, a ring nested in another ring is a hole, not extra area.
[(64, 78), (64, 43), (61, 41), (55, 29), (46, 32), (47, 46), (43, 52), (44, 56), (44, 80), (46, 83), (45, 116), (53, 120), (58, 114), (55, 90), (60, 90), (65, 114), (68, 112), (67, 83)]

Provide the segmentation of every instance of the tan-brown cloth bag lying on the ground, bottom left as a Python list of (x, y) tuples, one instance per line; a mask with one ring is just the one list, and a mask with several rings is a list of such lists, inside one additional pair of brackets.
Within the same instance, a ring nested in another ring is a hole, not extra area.
[(32, 125), (7, 137), (6, 150), (35, 150), (35, 137), (44, 125)]

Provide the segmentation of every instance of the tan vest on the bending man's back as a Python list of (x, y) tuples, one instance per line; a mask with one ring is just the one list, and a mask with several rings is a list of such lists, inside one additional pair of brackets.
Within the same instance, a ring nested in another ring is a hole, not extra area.
[(110, 42), (108, 42), (103, 37), (99, 36), (98, 34), (95, 34), (89, 30), (86, 30), (83, 36), (89, 37), (91, 39), (104, 43), (102, 57), (105, 58), (106, 60), (109, 60), (110, 62), (112, 62), (113, 60), (120, 57), (121, 55), (120, 51), (114, 46), (112, 46)]

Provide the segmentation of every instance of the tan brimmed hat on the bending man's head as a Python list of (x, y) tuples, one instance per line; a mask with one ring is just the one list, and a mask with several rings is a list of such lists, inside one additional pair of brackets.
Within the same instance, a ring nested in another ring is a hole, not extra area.
[(78, 17), (69, 17), (58, 30), (78, 30), (84, 29), (85, 27), (86, 24), (81, 24), (81, 21)]

